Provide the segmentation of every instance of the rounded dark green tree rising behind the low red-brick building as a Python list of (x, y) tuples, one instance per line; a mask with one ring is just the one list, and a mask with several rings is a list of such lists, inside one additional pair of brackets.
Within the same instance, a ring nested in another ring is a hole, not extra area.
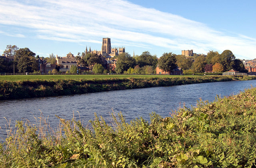
[(164, 53), (158, 60), (158, 66), (164, 71), (171, 71), (176, 68), (176, 55), (173, 53)]

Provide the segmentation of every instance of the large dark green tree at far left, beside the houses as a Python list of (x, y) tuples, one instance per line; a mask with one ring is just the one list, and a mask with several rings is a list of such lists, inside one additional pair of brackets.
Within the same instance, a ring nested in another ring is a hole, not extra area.
[(18, 72), (34, 72), (38, 70), (36, 64), (35, 53), (28, 48), (19, 49), (16, 51), (14, 61)]

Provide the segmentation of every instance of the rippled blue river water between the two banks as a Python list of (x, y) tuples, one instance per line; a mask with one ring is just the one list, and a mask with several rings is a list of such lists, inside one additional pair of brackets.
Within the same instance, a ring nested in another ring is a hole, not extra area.
[(89, 120), (94, 119), (96, 113), (108, 121), (112, 111), (122, 111), (127, 122), (137, 117), (150, 121), (150, 113), (153, 111), (162, 117), (168, 117), (173, 110), (184, 105), (191, 108), (191, 105), (196, 105), (200, 98), (213, 102), (216, 95), (230, 96), (252, 86), (256, 86), (256, 80), (0, 101), (0, 137), (6, 136), (6, 126), (14, 128), (16, 120), (33, 123), (40, 115), (44, 115), (51, 125), (59, 124), (59, 119), (55, 115), (72, 119), (74, 114), (86, 125)]

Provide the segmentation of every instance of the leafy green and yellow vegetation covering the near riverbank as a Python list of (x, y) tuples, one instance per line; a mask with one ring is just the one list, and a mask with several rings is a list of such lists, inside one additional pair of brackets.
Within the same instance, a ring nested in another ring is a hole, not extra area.
[(0, 145), (0, 167), (256, 167), (256, 88), (236, 96), (198, 102), (172, 117), (152, 113), (111, 124), (95, 116), (92, 127), (60, 118), (52, 130), (44, 117), (37, 125), (17, 122)]

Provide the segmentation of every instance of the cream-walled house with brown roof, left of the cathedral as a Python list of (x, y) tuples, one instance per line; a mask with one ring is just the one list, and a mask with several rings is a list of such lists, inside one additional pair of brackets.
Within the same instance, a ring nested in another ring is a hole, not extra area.
[(77, 66), (77, 60), (72, 53), (68, 53), (66, 57), (56, 56), (57, 64), (60, 66), (60, 72), (67, 72), (71, 66)]

